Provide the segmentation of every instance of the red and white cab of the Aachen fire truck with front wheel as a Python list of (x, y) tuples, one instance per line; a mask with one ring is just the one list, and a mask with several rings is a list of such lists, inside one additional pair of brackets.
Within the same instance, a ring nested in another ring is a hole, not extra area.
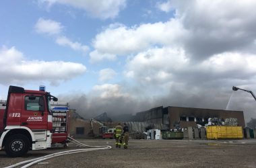
[(51, 147), (53, 116), (50, 101), (58, 99), (49, 92), (9, 86), (5, 109), (0, 110), (0, 150), (20, 157), (28, 150)]

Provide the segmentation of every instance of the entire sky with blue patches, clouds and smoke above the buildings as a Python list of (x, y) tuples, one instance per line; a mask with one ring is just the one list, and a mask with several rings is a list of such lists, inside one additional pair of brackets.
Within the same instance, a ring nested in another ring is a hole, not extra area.
[[(47, 91), (85, 117), (156, 106), (245, 111), (256, 91), (253, 0), (0, 3), (0, 98)], [(117, 108), (118, 107), (118, 108)]]

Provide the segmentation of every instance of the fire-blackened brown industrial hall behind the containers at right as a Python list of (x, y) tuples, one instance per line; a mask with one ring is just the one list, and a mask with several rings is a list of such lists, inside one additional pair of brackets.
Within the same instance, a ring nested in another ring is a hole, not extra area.
[(225, 120), (226, 118), (236, 118), (238, 126), (245, 127), (245, 118), (243, 111), (233, 110), (215, 110), (215, 109), (203, 109), (203, 108), (182, 108), (163, 106), (152, 108), (144, 112), (138, 112), (135, 116), (137, 122), (150, 122), (156, 124), (164, 124), (170, 129), (179, 125), (180, 128), (187, 126), (197, 126), (197, 124), (207, 124), (209, 118), (220, 118)]

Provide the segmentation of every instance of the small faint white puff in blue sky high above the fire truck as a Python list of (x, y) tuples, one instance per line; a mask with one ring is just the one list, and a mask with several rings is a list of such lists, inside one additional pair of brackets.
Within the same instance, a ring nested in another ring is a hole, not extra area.
[(63, 30), (63, 26), (59, 22), (55, 22), (51, 19), (39, 18), (34, 26), (37, 33), (42, 34), (60, 34)]

